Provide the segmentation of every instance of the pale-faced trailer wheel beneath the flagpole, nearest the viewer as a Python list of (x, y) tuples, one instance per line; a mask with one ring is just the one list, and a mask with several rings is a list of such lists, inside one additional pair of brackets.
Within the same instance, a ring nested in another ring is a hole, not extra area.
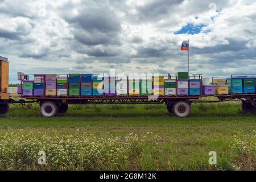
[(185, 118), (190, 114), (191, 108), (188, 102), (186, 101), (177, 101), (172, 107), (172, 112), (177, 117)]

